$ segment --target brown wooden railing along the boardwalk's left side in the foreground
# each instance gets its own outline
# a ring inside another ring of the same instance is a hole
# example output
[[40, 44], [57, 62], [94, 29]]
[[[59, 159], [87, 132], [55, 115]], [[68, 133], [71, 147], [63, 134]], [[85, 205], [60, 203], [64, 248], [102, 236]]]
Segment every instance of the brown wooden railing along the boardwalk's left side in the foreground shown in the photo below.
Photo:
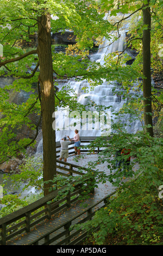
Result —
[[[21, 234], [23, 231], [29, 232], [30, 228], [37, 223], [45, 220], [46, 218], [50, 220], [51, 216], [56, 212], [65, 207], [70, 207], [82, 192], [81, 187], [83, 186], [83, 183], [81, 182], [76, 185], [72, 182], [72, 185], [74, 188], [72, 192], [67, 191], [67, 186], [61, 187], [36, 202], [2, 217], [0, 220], [0, 228], [2, 229], [1, 244], [5, 245], [7, 240], [12, 237]], [[66, 193], [66, 196], [56, 202], [52, 202], [57, 198], [60, 191], [62, 191], [63, 194]]]

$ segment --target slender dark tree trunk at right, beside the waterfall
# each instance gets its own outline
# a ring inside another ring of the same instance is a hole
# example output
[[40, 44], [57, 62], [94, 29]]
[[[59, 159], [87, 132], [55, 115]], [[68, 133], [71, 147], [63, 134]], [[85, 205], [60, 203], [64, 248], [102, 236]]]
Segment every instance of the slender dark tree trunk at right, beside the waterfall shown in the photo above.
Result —
[[[150, 0], [148, 0], [149, 4]], [[143, 114], [146, 131], [153, 137], [152, 124], [152, 94], [151, 94], [151, 11], [148, 5], [143, 6], [143, 25], [147, 29], [143, 30], [142, 50], [143, 50]], [[151, 127], [147, 127], [151, 125]]]

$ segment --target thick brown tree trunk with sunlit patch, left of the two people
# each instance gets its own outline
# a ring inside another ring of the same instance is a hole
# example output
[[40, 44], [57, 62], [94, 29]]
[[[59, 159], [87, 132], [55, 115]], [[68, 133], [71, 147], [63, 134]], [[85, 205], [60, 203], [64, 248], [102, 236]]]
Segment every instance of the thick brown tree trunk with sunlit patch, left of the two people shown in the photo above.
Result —
[[[39, 82], [41, 87], [42, 138], [43, 138], [43, 181], [56, 175], [55, 130], [52, 127], [54, 112], [53, 65], [51, 51], [51, 16], [47, 13], [38, 19], [37, 53], [40, 63]], [[49, 193], [50, 184], [44, 183], [44, 195]]]

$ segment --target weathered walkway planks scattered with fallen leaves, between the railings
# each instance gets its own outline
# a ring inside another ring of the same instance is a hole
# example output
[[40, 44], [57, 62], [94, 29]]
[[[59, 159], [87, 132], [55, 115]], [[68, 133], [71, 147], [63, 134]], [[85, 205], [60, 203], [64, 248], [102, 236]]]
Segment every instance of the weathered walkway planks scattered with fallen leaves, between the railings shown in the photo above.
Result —
[[[86, 163], [95, 159], [97, 157], [97, 154], [95, 155], [85, 155], [84, 158], [80, 158], [79, 162], [77, 164], [81, 164], [82, 166], [86, 166]], [[74, 156], [68, 157], [69, 163], [76, 163], [74, 161]], [[106, 166], [101, 167], [103, 170], [106, 170]], [[90, 198], [86, 200], [87, 206], [89, 206], [99, 202], [99, 200], [103, 199], [104, 197], [108, 196], [108, 194], [115, 191], [115, 187], [110, 186], [109, 182], [108, 184], [99, 184], [98, 188], [95, 188], [95, 193], [90, 195]], [[101, 206], [103, 204], [101, 203]], [[98, 209], [99, 206], [96, 207], [95, 210]], [[54, 216], [52, 216], [51, 220], [45, 220], [41, 223], [35, 225], [35, 227], [31, 228], [30, 233], [22, 233], [20, 235], [17, 235], [13, 239], [10, 239], [7, 241], [7, 245], [29, 245], [38, 237], [45, 235], [46, 233], [50, 232], [54, 228], [57, 228], [62, 223], [66, 223], [68, 220], [71, 220], [72, 217], [77, 216], [80, 212], [84, 212], [86, 208], [81, 205], [81, 202], [76, 201], [73, 204], [71, 204], [71, 208], [65, 208], [61, 210], [60, 212], [57, 212]], [[82, 218], [84, 218], [86, 214], [83, 214], [82, 216], [78, 217], [77, 220], [74, 220], [72, 224], [78, 223]], [[60, 230], [57, 230], [54, 234], [50, 235], [50, 237], [53, 237], [54, 235], [58, 235], [61, 233], [61, 231], [64, 231], [64, 227], [62, 227]], [[74, 231], [73, 231], [74, 232]], [[57, 242], [61, 243], [61, 240], [64, 238], [59, 238], [57, 241], [53, 242], [52, 245], [55, 245]], [[44, 239], [39, 241], [39, 245], [44, 243]], [[62, 243], [61, 243], [62, 244]]]

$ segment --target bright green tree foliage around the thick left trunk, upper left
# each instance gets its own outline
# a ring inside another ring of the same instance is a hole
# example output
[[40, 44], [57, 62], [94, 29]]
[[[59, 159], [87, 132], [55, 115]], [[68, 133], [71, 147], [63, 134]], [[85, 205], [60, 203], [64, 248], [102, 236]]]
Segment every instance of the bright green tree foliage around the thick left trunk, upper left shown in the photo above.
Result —
[[[103, 14], [98, 12], [96, 1], [90, 1], [89, 4], [86, 1], [68, 0], [0, 1], [0, 7], [2, 32], [0, 42], [3, 46], [0, 74], [15, 78], [11, 86], [1, 88], [0, 92], [2, 149], [0, 162], [3, 163], [20, 152], [24, 153], [29, 145], [34, 145], [41, 121], [41, 95], [38, 86], [40, 70], [35, 41], [38, 17], [47, 12], [51, 13], [53, 33], [73, 29], [77, 38], [76, 49], [78, 50], [75, 56], [71, 56], [70, 52], [54, 53], [52, 46], [53, 70], [57, 78], [79, 76], [84, 79], [87, 76], [93, 76], [93, 74], [88, 75], [89, 72], [86, 71], [90, 62], [87, 57], [84, 57], [87, 52], [85, 47], [93, 47], [93, 40], [103, 36], [106, 29], [111, 26], [109, 22], [103, 20]], [[83, 60], [80, 62], [81, 56]], [[12, 97], [17, 96], [18, 92], [29, 93], [28, 99], [20, 104], [12, 102]], [[62, 89], [54, 95], [56, 107], [61, 105], [70, 105], [71, 109], [76, 105], [82, 107], [77, 103], [76, 97], [71, 98], [66, 92], [67, 90]], [[31, 136], [20, 138], [17, 133], [20, 134], [22, 129], [26, 129]]]

